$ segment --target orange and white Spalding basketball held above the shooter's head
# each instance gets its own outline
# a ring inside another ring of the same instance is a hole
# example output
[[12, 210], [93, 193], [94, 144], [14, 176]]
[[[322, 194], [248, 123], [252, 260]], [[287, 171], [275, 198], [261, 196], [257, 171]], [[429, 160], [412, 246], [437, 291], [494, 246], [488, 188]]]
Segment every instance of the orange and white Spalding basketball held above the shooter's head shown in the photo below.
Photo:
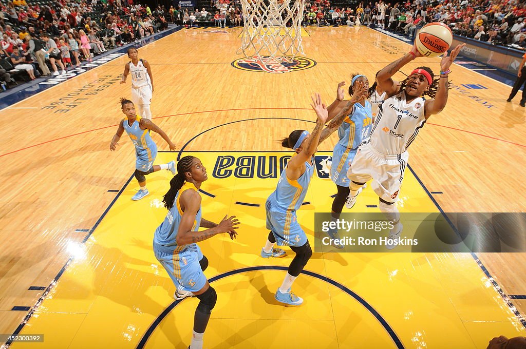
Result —
[[452, 41], [451, 29], [445, 24], [436, 22], [424, 25], [414, 39], [414, 44], [423, 56], [436, 57], [446, 52]]

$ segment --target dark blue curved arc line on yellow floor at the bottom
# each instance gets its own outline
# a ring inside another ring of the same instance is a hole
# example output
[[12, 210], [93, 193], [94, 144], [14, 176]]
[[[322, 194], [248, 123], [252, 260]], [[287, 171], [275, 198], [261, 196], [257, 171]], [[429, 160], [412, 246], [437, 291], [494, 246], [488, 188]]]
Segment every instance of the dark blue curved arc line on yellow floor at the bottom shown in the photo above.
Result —
[[[236, 275], [236, 274], [245, 273], [245, 272], [250, 272], [250, 271], [257, 271], [257, 270], [283, 270], [283, 271], [287, 271], [288, 267], [287, 266], [278, 266], [278, 265], [248, 266], [246, 268], [235, 269], [235, 270], [228, 271], [226, 273], [222, 273], [222, 274], [216, 275], [213, 278], [210, 278], [208, 280], [208, 282], [209, 283], [213, 283], [214, 281], [221, 280], [223, 278], [226, 278], [227, 276]], [[330, 283], [331, 285], [336, 286], [337, 288], [339, 288], [343, 292], [345, 292], [348, 295], [350, 295], [351, 297], [353, 297], [361, 305], [363, 305], [363, 307], [365, 307], [373, 316], [376, 317], [378, 322], [380, 322], [380, 324], [383, 326], [383, 329], [385, 329], [386, 332], [389, 334], [389, 336], [391, 337], [392, 341], [395, 342], [396, 347], [398, 349], [403, 349], [404, 348], [402, 342], [400, 341], [400, 338], [398, 338], [397, 334], [392, 329], [392, 327], [387, 323], [387, 321], [385, 319], [383, 319], [382, 315], [380, 315], [380, 313], [375, 308], [373, 308], [372, 305], [370, 305], [365, 299], [360, 297], [357, 293], [353, 292], [352, 290], [347, 288], [345, 285], [342, 285], [341, 283], [328, 278], [327, 276], [323, 276], [321, 274], [318, 274], [318, 273], [315, 273], [315, 272], [311, 272], [311, 271], [308, 271], [308, 270], [304, 270], [301, 273], [309, 275], [309, 276], [312, 276], [312, 278], [316, 278], [316, 279], [319, 279], [321, 281], [325, 281], [327, 283]], [[166, 307], [165, 310], [163, 310], [163, 312], [161, 312], [157, 316], [155, 321], [150, 325], [150, 327], [148, 327], [148, 330], [146, 330], [145, 334], [140, 339], [140, 342], [139, 342], [139, 344], [137, 344], [137, 347], [136, 347], [137, 349], [143, 349], [144, 348], [144, 346], [146, 345], [146, 342], [148, 342], [148, 338], [151, 336], [152, 333], [154, 333], [155, 329], [161, 323], [161, 321], [163, 321], [164, 318], [170, 313], [170, 311], [173, 310], [176, 307], [176, 305], [178, 305], [182, 301], [183, 300], [172, 302], [170, 305], [168, 305], [168, 307]], [[277, 301], [276, 301], [276, 303], [277, 303]]]

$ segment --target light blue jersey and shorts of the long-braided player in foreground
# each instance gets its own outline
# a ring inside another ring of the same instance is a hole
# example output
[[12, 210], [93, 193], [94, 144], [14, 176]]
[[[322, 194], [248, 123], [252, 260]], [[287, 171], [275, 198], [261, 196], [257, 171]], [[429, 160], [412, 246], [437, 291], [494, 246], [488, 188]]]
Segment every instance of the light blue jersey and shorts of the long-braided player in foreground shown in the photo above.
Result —
[[[186, 190], [197, 191], [197, 188], [193, 183], [185, 182], [177, 192], [174, 207], [168, 211], [163, 223], [155, 230], [154, 253], [178, 290], [197, 292], [205, 286], [207, 281], [199, 264], [203, 253], [195, 243], [179, 246], [176, 242], [177, 230], [183, 217], [179, 200]], [[200, 223], [201, 207], [197, 211], [191, 231], [197, 231]]]

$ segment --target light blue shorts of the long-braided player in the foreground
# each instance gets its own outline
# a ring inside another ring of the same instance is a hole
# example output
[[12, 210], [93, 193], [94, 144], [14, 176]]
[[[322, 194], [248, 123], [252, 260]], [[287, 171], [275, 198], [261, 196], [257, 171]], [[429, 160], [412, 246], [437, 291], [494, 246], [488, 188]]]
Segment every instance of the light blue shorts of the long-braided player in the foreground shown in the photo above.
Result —
[[203, 253], [197, 244], [190, 244], [184, 251], [174, 253], [154, 242], [154, 253], [179, 290], [198, 292], [204, 288], [207, 279], [199, 264]]

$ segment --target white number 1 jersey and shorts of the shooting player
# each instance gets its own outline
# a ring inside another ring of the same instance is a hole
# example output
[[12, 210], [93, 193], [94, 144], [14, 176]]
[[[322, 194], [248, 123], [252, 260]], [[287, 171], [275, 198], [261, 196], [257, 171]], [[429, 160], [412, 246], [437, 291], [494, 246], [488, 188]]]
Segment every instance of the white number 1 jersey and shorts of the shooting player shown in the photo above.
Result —
[[386, 99], [380, 106], [370, 139], [363, 144], [347, 172], [350, 180], [367, 182], [387, 202], [398, 199], [409, 153], [407, 148], [426, 123], [421, 97], [406, 102], [406, 93]]

